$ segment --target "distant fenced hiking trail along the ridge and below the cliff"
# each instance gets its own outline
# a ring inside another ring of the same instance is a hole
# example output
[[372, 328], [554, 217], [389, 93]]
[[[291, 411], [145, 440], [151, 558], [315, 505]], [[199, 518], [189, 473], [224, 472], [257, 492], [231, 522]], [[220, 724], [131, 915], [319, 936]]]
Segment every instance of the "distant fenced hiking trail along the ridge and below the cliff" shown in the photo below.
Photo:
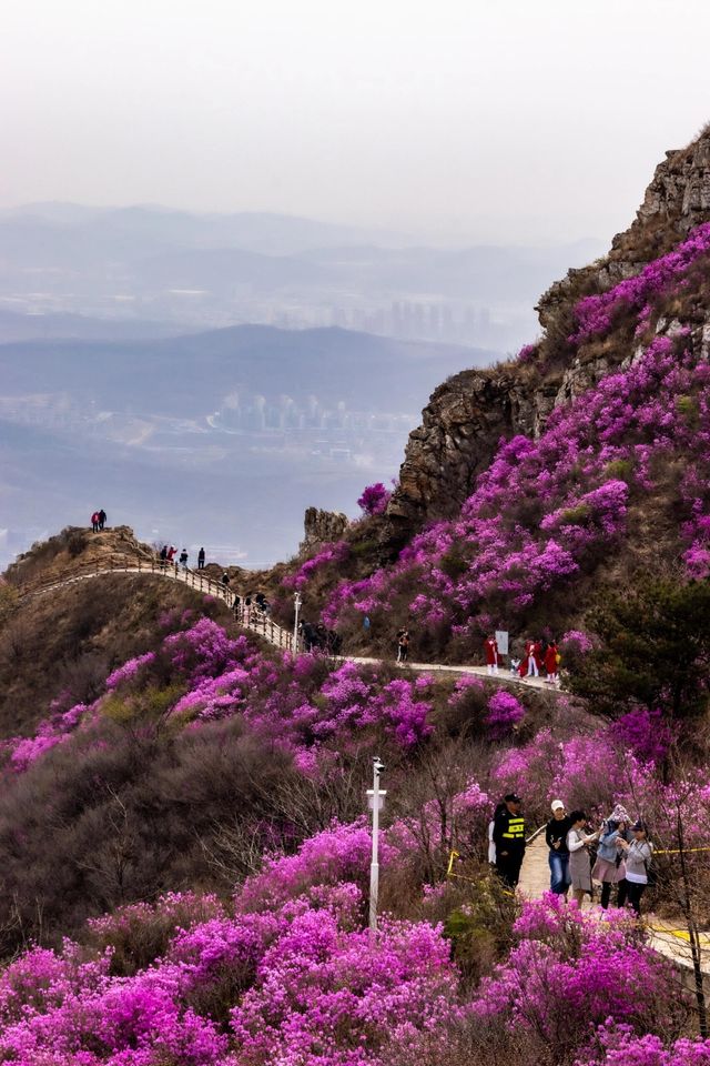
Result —
[[[126, 556], [120, 556], [116, 559], [109, 560], [109, 564], [105, 562], [102, 565], [101, 563], [90, 567], [82, 569], [77, 571], [68, 577], [62, 579], [61, 581], [53, 581], [48, 584], [41, 584], [36, 587], [28, 587], [27, 591], [22, 592], [22, 599], [28, 599], [30, 596], [43, 595], [44, 593], [54, 592], [58, 589], [67, 587], [68, 585], [77, 584], [81, 581], [89, 581], [94, 577], [103, 577], [109, 574], [126, 574], [128, 576], [142, 575], [146, 577], [162, 577], [168, 581], [175, 581], [180, 584], [187, 585], [191, 589], [194, 589], [196, 592], [203, 592], [206, 595], [214, 596], [217, 600], [222, 600], [229, 607], [234, 607], [234, 602], [237, 593], [232, 589], [225, 587], [221, 582], [215, 581], [214, 577], [210, 577], [204, 571], [200, 570], [184, 570], [179, 567], [175, 563], [165, 563], [162, 564], [158, 559], [131, 559], [126, 560]], [[240, 625], [243, 625], [244, 628], [251, 630], [253, 633], [257, 633], [260, 636], [263, 636], [264, 640], [268, 641], [270, 644], [275, 645], [276, 647], [283, 647], [286, 651], [293, 650], [293, 632], [291, 630], [284, 628], [284, 626], [277, 625], [275, 622], [272, 622], [267, 614], [264, 614], [263, 611], [260, 611], [254, 604], [250, 607], [244, 606], [243, 597], [240, 601], [240, 607], [236, 614], [237, 622]], [[338, 655], [338, 658], [351, 663], [379, 663], [382, 660], [375, 657], [368, 657], [363, 655]], [[442, 674], [473, 674], [477, 677], [487, 677], [489, 681], [493, 681], [500, 685], [506, 685], [508, 687], [521, 688], [539, 688], [545, 692], [558, 693], [560, 690], [555, 685], [550, 685], [544, 677], [519, 677], [517, 673], [511, 674], [507, 670], [501, 670], [498, 674], [488, 674], [486, 666], [446, 666], [442, 663], [415, 663], [407, 662], [403, 664], [403, 668], [418, 671], [420, 673], [442, 673]]]

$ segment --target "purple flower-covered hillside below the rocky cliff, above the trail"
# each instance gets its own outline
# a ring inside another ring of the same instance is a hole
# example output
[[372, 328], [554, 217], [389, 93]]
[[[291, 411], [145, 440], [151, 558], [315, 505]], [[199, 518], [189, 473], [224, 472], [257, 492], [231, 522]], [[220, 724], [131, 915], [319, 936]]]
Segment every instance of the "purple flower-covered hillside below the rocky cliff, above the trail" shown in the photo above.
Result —
[[[682, 284], [684, 274], [658, 276]], [[608, 324], [617, 302], [628, 311], [629, 288], [585, 301], [584, 329]], [[559, 635], [579, 619], [590, 580], [623, 580], [659, 560], [708, 573], [706, 341], [680, 325], [655, 335], [647, 288], [637, 285], [642, 339], [629, 365], [558, 408], [539, 439], [504, 442], [456, 521], [433, 524], [371, 577], [335, 584], [327, 625], [362, 643], [365, 615], [387, 640], [406, 621], [419, 657], [470, 658], [494, 627]]]

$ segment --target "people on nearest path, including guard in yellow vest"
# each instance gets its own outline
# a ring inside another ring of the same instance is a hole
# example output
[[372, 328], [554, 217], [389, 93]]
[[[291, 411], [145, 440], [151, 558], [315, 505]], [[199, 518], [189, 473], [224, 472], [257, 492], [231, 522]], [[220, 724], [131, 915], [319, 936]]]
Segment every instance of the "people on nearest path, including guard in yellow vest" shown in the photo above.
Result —
[[[549, 849], [550, 892], [572, 897], [581, 906], [585, 895], [594, 899], [592, 882], [601, 885], [600, 904], [606, 911], [616, 887], [615, 904], [631, 905], [641, 913], [641, 896], [649, 883], [653, 845], [648, 826], [633, 821], [621, 804], [594, 828], [582, 809], [569, 814], [561, 800], [552, 802], [552, 816], [545, 828]], [[508, 793], [498, 804], [488, 827], [488, 859], [508, 888], [515, 888], [525, 856], [523, 800]]]

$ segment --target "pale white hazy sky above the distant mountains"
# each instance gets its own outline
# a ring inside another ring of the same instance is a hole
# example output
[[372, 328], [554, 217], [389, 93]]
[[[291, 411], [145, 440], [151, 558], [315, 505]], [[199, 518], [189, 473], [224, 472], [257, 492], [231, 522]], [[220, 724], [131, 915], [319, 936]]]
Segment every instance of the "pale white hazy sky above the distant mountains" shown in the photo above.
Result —
[[2, 207], [608, 239], [710, 119], [708, 0], [0, 0], [0, 16]]

